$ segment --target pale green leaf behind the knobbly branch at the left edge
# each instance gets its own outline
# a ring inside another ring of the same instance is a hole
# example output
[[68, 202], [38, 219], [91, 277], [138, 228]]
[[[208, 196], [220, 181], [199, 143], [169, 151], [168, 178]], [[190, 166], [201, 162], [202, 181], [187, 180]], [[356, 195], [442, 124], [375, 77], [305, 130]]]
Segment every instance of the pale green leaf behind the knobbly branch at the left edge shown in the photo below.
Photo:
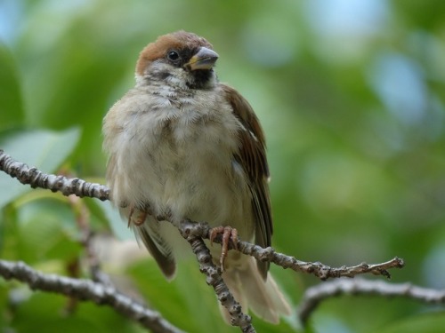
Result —
[[[0, 134], [0, 148], [16, 161], [51, 173], [61, 166], [77, 145], [80, 131], [7, 131]], [[16, 179], [0, 176], [0, 208], [29, 190]]]

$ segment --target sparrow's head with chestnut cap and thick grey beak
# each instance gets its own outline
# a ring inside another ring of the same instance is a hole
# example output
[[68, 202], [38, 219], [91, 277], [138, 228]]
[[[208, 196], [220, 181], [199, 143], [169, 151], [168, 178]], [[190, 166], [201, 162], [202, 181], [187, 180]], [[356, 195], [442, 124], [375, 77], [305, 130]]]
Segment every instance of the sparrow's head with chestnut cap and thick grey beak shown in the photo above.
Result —
[[212, 44], [195, 34], [177, 31], [160, 36], [141, 52], [136, 65], [138, 85], [163, 82], [183, 89], [209, 89], [216, 83]]

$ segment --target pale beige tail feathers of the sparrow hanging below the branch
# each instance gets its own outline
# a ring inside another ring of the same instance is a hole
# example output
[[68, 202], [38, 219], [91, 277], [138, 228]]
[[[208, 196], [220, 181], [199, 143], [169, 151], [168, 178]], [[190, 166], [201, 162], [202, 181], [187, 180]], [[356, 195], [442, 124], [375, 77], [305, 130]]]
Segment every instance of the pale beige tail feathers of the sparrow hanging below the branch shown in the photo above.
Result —
[[[274, 324], [279, 323], [280, 314], [291, 313], [290, 306], [271, 274], [268, 274], [267, 280], [264, 281], [254, 258], [248, 258], [248, 265], [246, 263], [243, 269], [224, 272], [223, 279], [233, 297], [242, 306], [244, 313], [247, 313], [249, 307], [258, 317]], [[230, 323], [230, 314], [222, 305], [220, 306], [224, 319]]]

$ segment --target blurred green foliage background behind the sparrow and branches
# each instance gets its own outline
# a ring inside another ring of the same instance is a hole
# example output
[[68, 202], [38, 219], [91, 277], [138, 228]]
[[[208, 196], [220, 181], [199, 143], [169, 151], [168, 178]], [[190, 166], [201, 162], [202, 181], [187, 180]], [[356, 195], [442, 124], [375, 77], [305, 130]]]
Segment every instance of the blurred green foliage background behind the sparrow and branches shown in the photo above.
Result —
[[[134, 86], [142, 48], [178, 29], [214, 45], [221, 81], [263, 124], [277, 250], [330, 266], [400, 256], [406, 267], [392, 282], [445, 288], [440, 0], [0, 0], [0, 148], [44, 172], [104, 183], [101, 119]], [[48, 192], [0, 175], [0, 258], [88, 278], [86, 220], [120, 289], [184, 330], [238, 331], [221, 320], [192, 258], [166, 282], [109, 203]], [[271, 270], [295, 306], [320, 283]], [[254, 322], [258, 331], [303, 330], [295, 316]], [[308, 330], [438, 332], [444, 322], [443, 307], [337, 297]], [[0, 279], [0, 332], [36, 327], [143, 331], [108, 307]]]

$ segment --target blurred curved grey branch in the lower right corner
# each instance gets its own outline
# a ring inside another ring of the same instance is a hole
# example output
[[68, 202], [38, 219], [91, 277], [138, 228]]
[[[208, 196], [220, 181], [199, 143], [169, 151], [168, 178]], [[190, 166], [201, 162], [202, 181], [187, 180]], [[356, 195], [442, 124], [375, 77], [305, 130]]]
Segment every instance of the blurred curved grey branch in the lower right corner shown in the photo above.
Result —
[[427, 289], [411, 283], [388, 283], [364, 279], [336, 280], [320, 283], [304, 292], [298, 307], [298, 317], [303, 324], [322, 301], [342, 295], [378, 295], [383, 297], [409, 297], [427, 304], [445, 304], [445, 290]]

